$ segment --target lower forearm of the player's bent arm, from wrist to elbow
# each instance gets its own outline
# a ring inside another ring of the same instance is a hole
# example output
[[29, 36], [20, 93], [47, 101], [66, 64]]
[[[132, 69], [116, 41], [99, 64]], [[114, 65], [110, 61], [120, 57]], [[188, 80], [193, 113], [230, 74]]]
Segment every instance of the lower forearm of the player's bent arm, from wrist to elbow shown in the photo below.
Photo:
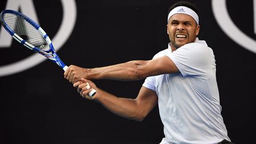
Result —
[[102, 104], [112, 113], [127, 119], [142, 121], [146, 116], [143, 113], [143, 108], [139, 108], [136, 99], [115, 97], [108, 92], [98, 89], [95, 101]]

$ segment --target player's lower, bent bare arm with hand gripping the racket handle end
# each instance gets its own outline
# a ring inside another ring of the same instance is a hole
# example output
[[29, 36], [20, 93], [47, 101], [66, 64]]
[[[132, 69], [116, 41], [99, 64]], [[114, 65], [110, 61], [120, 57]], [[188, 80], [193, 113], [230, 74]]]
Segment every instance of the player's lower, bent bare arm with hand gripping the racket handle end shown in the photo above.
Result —
[[[87, 82], [91, 88], [97, 90], [97, 93], [93, 97], [88, 96], [88, 92], [91, 89], [86, 88]], [[82, 79], [82, 82], [76, 82], [73, 87], [78, 88], [78, 92], [82, 97], [97, 101], [107, 108], [107, 110], [118, 116], [136, 121], [142, 121], [158, 102], [156, 92], [145, 87], [140, 89], [135, 99], [116, 97], [97, 88], [93, 82], [85, 79]]]

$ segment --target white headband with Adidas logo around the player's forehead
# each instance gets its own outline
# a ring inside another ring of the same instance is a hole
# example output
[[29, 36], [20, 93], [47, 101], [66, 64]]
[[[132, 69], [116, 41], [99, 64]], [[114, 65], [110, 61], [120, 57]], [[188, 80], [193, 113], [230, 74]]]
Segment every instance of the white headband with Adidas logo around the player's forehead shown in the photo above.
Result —
[[179, 7], [176, 7], [174, 9], [172, 9], [169, 12], [167, 23], [169, 21], [169, 18], [171, 18], [171, 16], [174, 15], [174, 14], [187, 14], [187, 15], [190, 15], [191, 17], [194, 18], [194, 20], [196, 20], [196, 23], [199, 24], [199, 16], [197, 15], [196, 12], [194, 12], [192, 9], [190, 9], [188, 7], [179, 6]]

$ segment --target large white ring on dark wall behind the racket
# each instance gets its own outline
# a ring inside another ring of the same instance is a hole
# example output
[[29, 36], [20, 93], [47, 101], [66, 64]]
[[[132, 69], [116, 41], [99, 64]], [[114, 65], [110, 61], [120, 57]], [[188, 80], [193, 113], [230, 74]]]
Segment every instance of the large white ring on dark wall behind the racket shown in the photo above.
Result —
[[[75, 0], [61, 0], [63, 7], [63, 19], [56, 36], [52, 39], [55, 50], [59, 50], [60, 47], [68, 40], [76, 21], [76, 2]], [[8, 65], [0, 66], [0, 76], [11, 75], [17, 72], [25, 71], [33, 66], [38, 65], [47, 58], [35, 53], [23, 60], [14, 62]]]

